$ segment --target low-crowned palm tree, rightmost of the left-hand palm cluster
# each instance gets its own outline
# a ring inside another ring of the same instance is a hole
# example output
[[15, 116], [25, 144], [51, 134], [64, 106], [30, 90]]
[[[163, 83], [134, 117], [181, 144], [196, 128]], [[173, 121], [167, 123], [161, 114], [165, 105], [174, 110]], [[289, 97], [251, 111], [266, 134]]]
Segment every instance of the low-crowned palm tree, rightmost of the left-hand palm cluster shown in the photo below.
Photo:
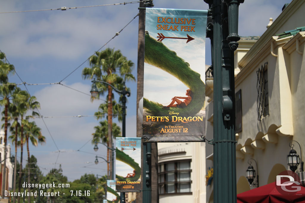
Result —
[[[30, 148], [29, 148], [29, 141], [31, 141], [32, 145], [37, 146], [38, 143], [41, 145], [45, 143], [45, 137], [41, 134], [41, 128], [39, 128], [35, 121], [33, 122], [26, 122], [24, 127], [25, 139], [27, 142], [27, 182], [30, 184]], [[29, 191], [30, 192], [30, 188]], [[30, 196], [28, 196], [28, 202], [30, 202]]]

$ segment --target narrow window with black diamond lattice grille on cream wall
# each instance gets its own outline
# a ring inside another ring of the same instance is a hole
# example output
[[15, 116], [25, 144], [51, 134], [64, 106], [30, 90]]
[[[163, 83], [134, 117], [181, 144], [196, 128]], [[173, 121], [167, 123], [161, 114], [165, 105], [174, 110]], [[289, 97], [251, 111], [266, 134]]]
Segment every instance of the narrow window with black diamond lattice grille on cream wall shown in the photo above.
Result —
[[268, 70], [267, 64], [257, 71], [257, 108], [258, 108], [258, 120], [269, 115], [269, 100], [268, 100]]

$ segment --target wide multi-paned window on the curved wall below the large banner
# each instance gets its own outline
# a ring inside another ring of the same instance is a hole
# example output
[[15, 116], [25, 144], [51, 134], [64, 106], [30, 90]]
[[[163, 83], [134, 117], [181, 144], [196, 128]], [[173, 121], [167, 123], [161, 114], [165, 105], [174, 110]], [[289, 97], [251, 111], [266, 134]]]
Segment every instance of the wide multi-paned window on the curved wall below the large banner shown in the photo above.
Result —
[[159, 194], [191, 193], [191, 160], [159, 164]]

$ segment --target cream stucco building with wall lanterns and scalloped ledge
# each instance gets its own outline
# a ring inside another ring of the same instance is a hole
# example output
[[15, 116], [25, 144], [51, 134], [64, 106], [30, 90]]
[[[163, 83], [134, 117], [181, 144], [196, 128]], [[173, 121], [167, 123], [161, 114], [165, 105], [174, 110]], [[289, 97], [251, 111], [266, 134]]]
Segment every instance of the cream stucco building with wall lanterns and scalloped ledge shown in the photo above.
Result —
[[[237, 193], [254, 188], [245, 177], [249, 159], [262, 186], [290, 170], [286, 157], [292, 140], [305, 157], [304, 11], [305, 1], [293, 0], [261, 37], [243, 38], [235, 51]], [[206, 75], [206, 138], [212, 139], [213, 78]], [[207, 144], [209, 166], [213, 146]], [[206, 202], [213, 202], [213, 184], [206, 187]]]

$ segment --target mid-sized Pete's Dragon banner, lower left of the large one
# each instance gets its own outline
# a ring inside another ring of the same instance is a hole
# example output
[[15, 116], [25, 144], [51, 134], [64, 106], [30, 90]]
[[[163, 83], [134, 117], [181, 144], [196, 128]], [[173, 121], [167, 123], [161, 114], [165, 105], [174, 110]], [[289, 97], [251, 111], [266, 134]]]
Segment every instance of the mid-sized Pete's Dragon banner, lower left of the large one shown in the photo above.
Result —
[[139, 192], [141, 189], [141, 138], [117, 138], [116, 189]]

